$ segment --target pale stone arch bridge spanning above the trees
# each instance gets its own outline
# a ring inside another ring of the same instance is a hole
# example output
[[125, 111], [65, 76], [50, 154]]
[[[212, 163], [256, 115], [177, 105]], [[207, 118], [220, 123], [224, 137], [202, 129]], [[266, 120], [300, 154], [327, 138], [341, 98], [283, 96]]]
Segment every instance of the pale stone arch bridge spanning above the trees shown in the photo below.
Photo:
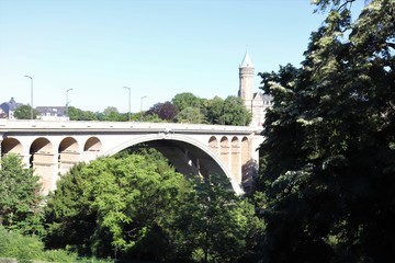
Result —
[[1, 157], [19, 155], [41, 176], [44, 193], [75, 163], [136, 146], [158, 149], [183, 174], [226, 175], [242, 193], [258, 169], [262, 140], [249, 126], [0, 119]]

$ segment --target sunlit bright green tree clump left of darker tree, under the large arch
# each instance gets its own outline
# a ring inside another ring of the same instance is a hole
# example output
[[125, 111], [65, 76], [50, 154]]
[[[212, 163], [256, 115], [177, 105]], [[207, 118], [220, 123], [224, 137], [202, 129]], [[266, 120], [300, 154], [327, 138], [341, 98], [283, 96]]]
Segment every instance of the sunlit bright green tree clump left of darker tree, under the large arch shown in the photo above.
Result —
[[167, 253], [162, 225], [173, 215], [184, 183], [157, 156], [120, 155], [75, 168], [48, 197], [47, 245], [160, 260]]

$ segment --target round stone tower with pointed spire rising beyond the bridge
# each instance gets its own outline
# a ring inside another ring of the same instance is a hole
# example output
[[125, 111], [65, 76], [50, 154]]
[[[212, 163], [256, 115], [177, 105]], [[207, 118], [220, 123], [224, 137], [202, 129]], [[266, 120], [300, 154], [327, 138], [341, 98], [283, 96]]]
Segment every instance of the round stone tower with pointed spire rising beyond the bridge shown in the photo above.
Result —
[[246, 52], [246, 55], [239, 67], [239, 92], [238, 96], [241, 98], [245, 106], [251, 112], [252, 111], [252, 88], [253, 88], [253, 76], [255, 68], [251, 59]]

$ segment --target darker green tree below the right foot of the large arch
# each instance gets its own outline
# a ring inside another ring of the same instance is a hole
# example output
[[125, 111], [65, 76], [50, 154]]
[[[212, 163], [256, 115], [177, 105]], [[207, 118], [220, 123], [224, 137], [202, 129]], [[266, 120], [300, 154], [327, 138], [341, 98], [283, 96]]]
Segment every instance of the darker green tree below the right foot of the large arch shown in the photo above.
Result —
[[248, 262], [264, 225], [248, 199], [236, 196], [229, 181], [191, 179], [194, 191], [185, 193], [169, 226], [176, 258], [182, 262]]

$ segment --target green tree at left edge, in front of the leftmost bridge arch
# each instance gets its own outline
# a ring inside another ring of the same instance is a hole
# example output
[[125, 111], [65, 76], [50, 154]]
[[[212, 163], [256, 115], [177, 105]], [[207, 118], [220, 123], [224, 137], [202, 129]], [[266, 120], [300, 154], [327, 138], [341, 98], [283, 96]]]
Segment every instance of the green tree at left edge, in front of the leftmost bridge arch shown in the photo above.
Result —
[[0, 164], [0, 225], [23, 233], [42, 233], [38, 176], [15, 155], [2, 157]]

